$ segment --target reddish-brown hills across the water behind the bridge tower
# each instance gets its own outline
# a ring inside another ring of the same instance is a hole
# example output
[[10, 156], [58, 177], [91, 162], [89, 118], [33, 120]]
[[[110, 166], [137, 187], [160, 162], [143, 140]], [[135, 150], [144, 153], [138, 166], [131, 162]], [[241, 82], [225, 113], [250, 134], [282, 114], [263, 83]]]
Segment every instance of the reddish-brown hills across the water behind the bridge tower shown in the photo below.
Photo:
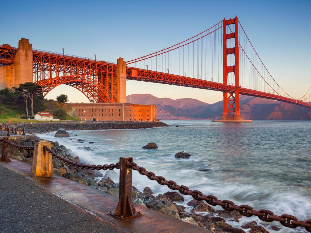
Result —
[[[132, 103], [157, 105], [161, 120], [220, 119], [223, 102], [204, 103], [197, 99], [157, 98], [151, 94], [132, 94]], [[130, 96], [127, 96], [130, 103]], [[310, 120], [311, 109], [290, 103], [252, 96], [240, 96], [240, 112], [244, 120]]]

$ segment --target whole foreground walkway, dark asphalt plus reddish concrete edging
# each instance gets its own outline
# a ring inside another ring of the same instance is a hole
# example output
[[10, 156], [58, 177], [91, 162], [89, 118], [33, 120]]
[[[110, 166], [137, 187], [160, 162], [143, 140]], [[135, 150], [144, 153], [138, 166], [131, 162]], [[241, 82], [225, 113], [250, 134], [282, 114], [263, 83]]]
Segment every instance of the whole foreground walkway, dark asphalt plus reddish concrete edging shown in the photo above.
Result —
[[211, 233], [142, 206], [143, 216], [119, 220], [118, 199], [75, 181], [54, 175], [34, 179], [31, 166], [0, 163], [0, 232]]

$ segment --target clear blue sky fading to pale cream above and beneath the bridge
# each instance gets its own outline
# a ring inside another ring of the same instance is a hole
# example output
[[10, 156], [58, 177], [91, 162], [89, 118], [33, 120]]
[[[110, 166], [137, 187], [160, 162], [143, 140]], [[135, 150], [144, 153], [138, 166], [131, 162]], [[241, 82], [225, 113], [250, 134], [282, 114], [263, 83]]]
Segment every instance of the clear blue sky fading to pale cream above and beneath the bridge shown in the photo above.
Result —
[[[262, 61], [281, 87], [300, 98], [311, 85], [309, 41], [311, 1], [0, 1], [0, 44], [116, 62], [130, 60], [188, 39], [225, 18], [239, 17]], [[70, 90], [70, 91], [69, 91]], [[79, 91], [59, 86], [71, 102], [86, 102]], [[197, 98], [207, 103], [222, 93], [127, 81], [127, 94]]]

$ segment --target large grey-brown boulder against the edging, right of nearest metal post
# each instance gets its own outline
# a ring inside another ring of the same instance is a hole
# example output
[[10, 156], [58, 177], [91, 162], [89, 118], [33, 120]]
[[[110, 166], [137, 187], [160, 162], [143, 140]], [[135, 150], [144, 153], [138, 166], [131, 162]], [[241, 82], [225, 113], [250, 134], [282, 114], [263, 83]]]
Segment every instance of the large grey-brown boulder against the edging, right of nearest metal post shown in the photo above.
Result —
[[166, 214], [170, 217], [179, 219], [178, 209], [168, 200], [154, 199], [146, 203], [147, 208]]

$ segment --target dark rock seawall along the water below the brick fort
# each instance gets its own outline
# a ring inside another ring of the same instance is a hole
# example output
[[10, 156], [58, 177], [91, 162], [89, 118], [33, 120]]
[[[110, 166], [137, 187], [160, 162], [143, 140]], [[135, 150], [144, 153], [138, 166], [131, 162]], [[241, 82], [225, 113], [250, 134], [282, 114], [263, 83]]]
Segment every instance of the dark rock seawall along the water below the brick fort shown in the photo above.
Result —
[[119, 129], [148, 129], [168, 126], [161, 121], [135, 121], [135, 122], [99, 122], [99, 123], [52, 123], [25, 125], [25, 132], [29, 134], [45, 133], [64, 130], [119, 130]]

